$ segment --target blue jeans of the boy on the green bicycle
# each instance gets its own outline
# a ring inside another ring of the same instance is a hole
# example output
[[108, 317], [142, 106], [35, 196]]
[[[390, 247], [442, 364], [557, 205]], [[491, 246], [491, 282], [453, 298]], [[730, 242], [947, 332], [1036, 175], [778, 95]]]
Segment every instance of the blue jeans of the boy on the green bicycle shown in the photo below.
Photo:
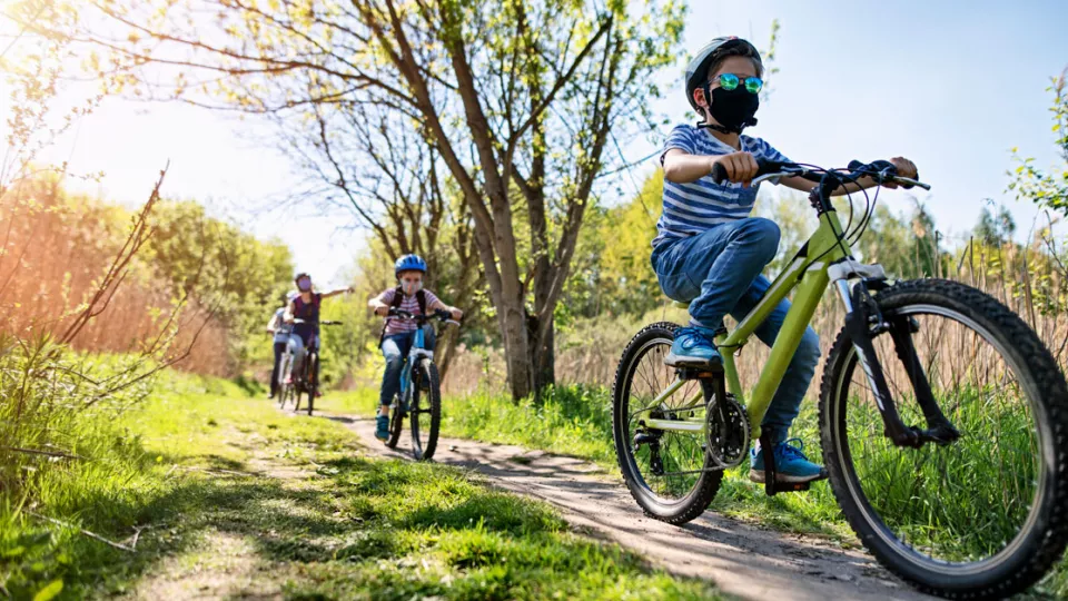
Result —
[[[712, 227], [689, 238], [669, 239], [653, 249], [652, 264], [664, 294], [690, 303], [693, 324], [715, 328], [730, 314], [744, 317], [771, 286], [760, 275], [779, 250], [779, 226], [760, 217]], [[756, 328], [771, 346], [790, 309], [783, 299]], [[809, 327], [761, 423], [774, 442], [787, 440], [820, 361], [820, 338]]]

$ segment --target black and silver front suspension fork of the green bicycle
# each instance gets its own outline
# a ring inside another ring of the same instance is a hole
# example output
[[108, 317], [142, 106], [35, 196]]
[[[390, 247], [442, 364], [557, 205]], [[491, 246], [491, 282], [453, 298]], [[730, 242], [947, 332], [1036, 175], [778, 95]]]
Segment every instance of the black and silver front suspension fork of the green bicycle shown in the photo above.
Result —
[[[920, 359], [916, 354], [916, 346], [912, 344], [912, 334], [919, 331], [919, 324], [911, 317], [891, 315], [886, 319], [879, 306], [874, 303], [868, 292], [869, 286], [878, 289], [883, 287], [881, 280], [863, 279], [858, 283], [852, 290], [844, 279], [835, 282], [838, 292], [846, 305], [846, 333], [852, 342], [853, 348], [868, 384], [876, 396], [876, 405], [882, 415], [886, 425], [884, 434], [897, 446], [908, 446], [919, 449], [924, 443], [933, 442], [937, 444], [949, 444], [960, 437], [960, 433], [942, 414], [934, 395], [931, 392], [930, 383]], [[893, 395], [890, 393], [890, 386], [887, 384], [886, 375], [882, 372], [882, 365], [876, 354], [876, 347], [872, 343], [872, 335], [889, 331], [893, 341], [894, 352], [898, 359], [906, 368], [912, 391], [916, 394], [916, 401], [923, 412], [927, 421], [927, 428], [920, 430], [916, 426], [907, 426], [901, 421], [898, 413]]]

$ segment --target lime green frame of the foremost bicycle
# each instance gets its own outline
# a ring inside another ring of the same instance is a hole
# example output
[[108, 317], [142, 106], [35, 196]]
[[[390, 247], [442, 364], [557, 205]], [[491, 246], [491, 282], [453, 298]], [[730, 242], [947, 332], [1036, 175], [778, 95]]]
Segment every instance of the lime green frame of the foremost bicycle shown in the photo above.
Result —
[[[852, 253], [849, 243], [842, 236], [842, 225], [834, 210], [823, 210], [819, 215], [820, 225], [812, 234], [812, 237], [801, 247], [790, 265], [779, 277], [772, 282], [768, 293], [756, 304], [755, 307], [735, 326], [733, 332], [716, 337], [716, 345], [726, 352], [723, 356], [723, 372], [726, 378], [728, 391], [738, 398], [740, 403], [745, 404], [749, 420], [753, 427], [753, 439], [760, 436], [760, 423], [768, 413], [771, 400], [782, 383], [782, 377], [793, 358], [798, 346], [801, 344], [801, 337], [805, 328], [812, 321], [815, 309], [827, 290], [830, 283], [828, 269], [839, 260], [851, 257]], [[843, 298], [849, 298], [849, 286], [844, 279], [838, 280], [840, 292]], [[749, 403], [744, 401], [741, 380], [738, 376], [738, 368], [734, 364], [734, 357], [741, 352], [742, 347], [749, 342], [756, 328], [764, 323], [772, 311], [791, 292], [797, 289], [792, 306], [787, 312], [782, 328], [771, 347], [771, 355], [761, 371], [760, 380], [753, 387], [752, 396]], [[733, 352], [731, 352], [733, 351]], [[676, 376], [675, 381], [660, 393], [646, 410], [660, 405], [665, 398], [674, 394], [685, 384], [685, 380]], [[695, 408], [704, 403], [704, 391], [699, 391], [692, 398], [688, 400], [681, 407], [672, 407], [673, 412]], [[704, 418], [689, 420], [659, 420], [645, 418], [649, 427], [673, 432], [704, 432], [706, 428]]]

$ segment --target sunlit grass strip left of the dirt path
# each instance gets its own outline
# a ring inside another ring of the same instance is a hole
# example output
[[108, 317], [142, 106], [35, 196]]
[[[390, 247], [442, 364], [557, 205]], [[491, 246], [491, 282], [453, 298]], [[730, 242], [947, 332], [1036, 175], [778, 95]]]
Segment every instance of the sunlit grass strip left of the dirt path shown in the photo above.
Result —
[[[29, 515], [0, 492], [0, 584], [17, 599], [708, 599], [548, 505], [441, 465], [370, 460], [340, 423], [168, 373], [92, 424], [117, 441], [50, 481]], [[88, 426], [87, 426], [88, 427]], [[102, 449], [102, 447], [101, 447]], [[126, 545], [141, 529], [136, 551]]]

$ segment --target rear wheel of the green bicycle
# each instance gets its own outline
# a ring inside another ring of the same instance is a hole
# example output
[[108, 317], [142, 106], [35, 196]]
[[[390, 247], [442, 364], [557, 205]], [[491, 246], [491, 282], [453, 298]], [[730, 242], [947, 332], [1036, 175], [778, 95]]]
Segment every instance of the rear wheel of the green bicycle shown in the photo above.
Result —
[[722, 471], [706, 471], [713, 462], [704, 451], [701, 432], [644, 425], [646, 417], [704, 420], [703, 403], [688, 406], [701, 390], [696, 381], [684, 383], [661, 403], [652, 403], [675, 378], [675, 370], [664, 365], [664, 357], [678, 328], [672, 323], [653, 324], [627, 344], [615, 373], [612, 407], [615, 452], [631, 496], [647, 515], [673, 524], [704, 512], [723, 479]]

